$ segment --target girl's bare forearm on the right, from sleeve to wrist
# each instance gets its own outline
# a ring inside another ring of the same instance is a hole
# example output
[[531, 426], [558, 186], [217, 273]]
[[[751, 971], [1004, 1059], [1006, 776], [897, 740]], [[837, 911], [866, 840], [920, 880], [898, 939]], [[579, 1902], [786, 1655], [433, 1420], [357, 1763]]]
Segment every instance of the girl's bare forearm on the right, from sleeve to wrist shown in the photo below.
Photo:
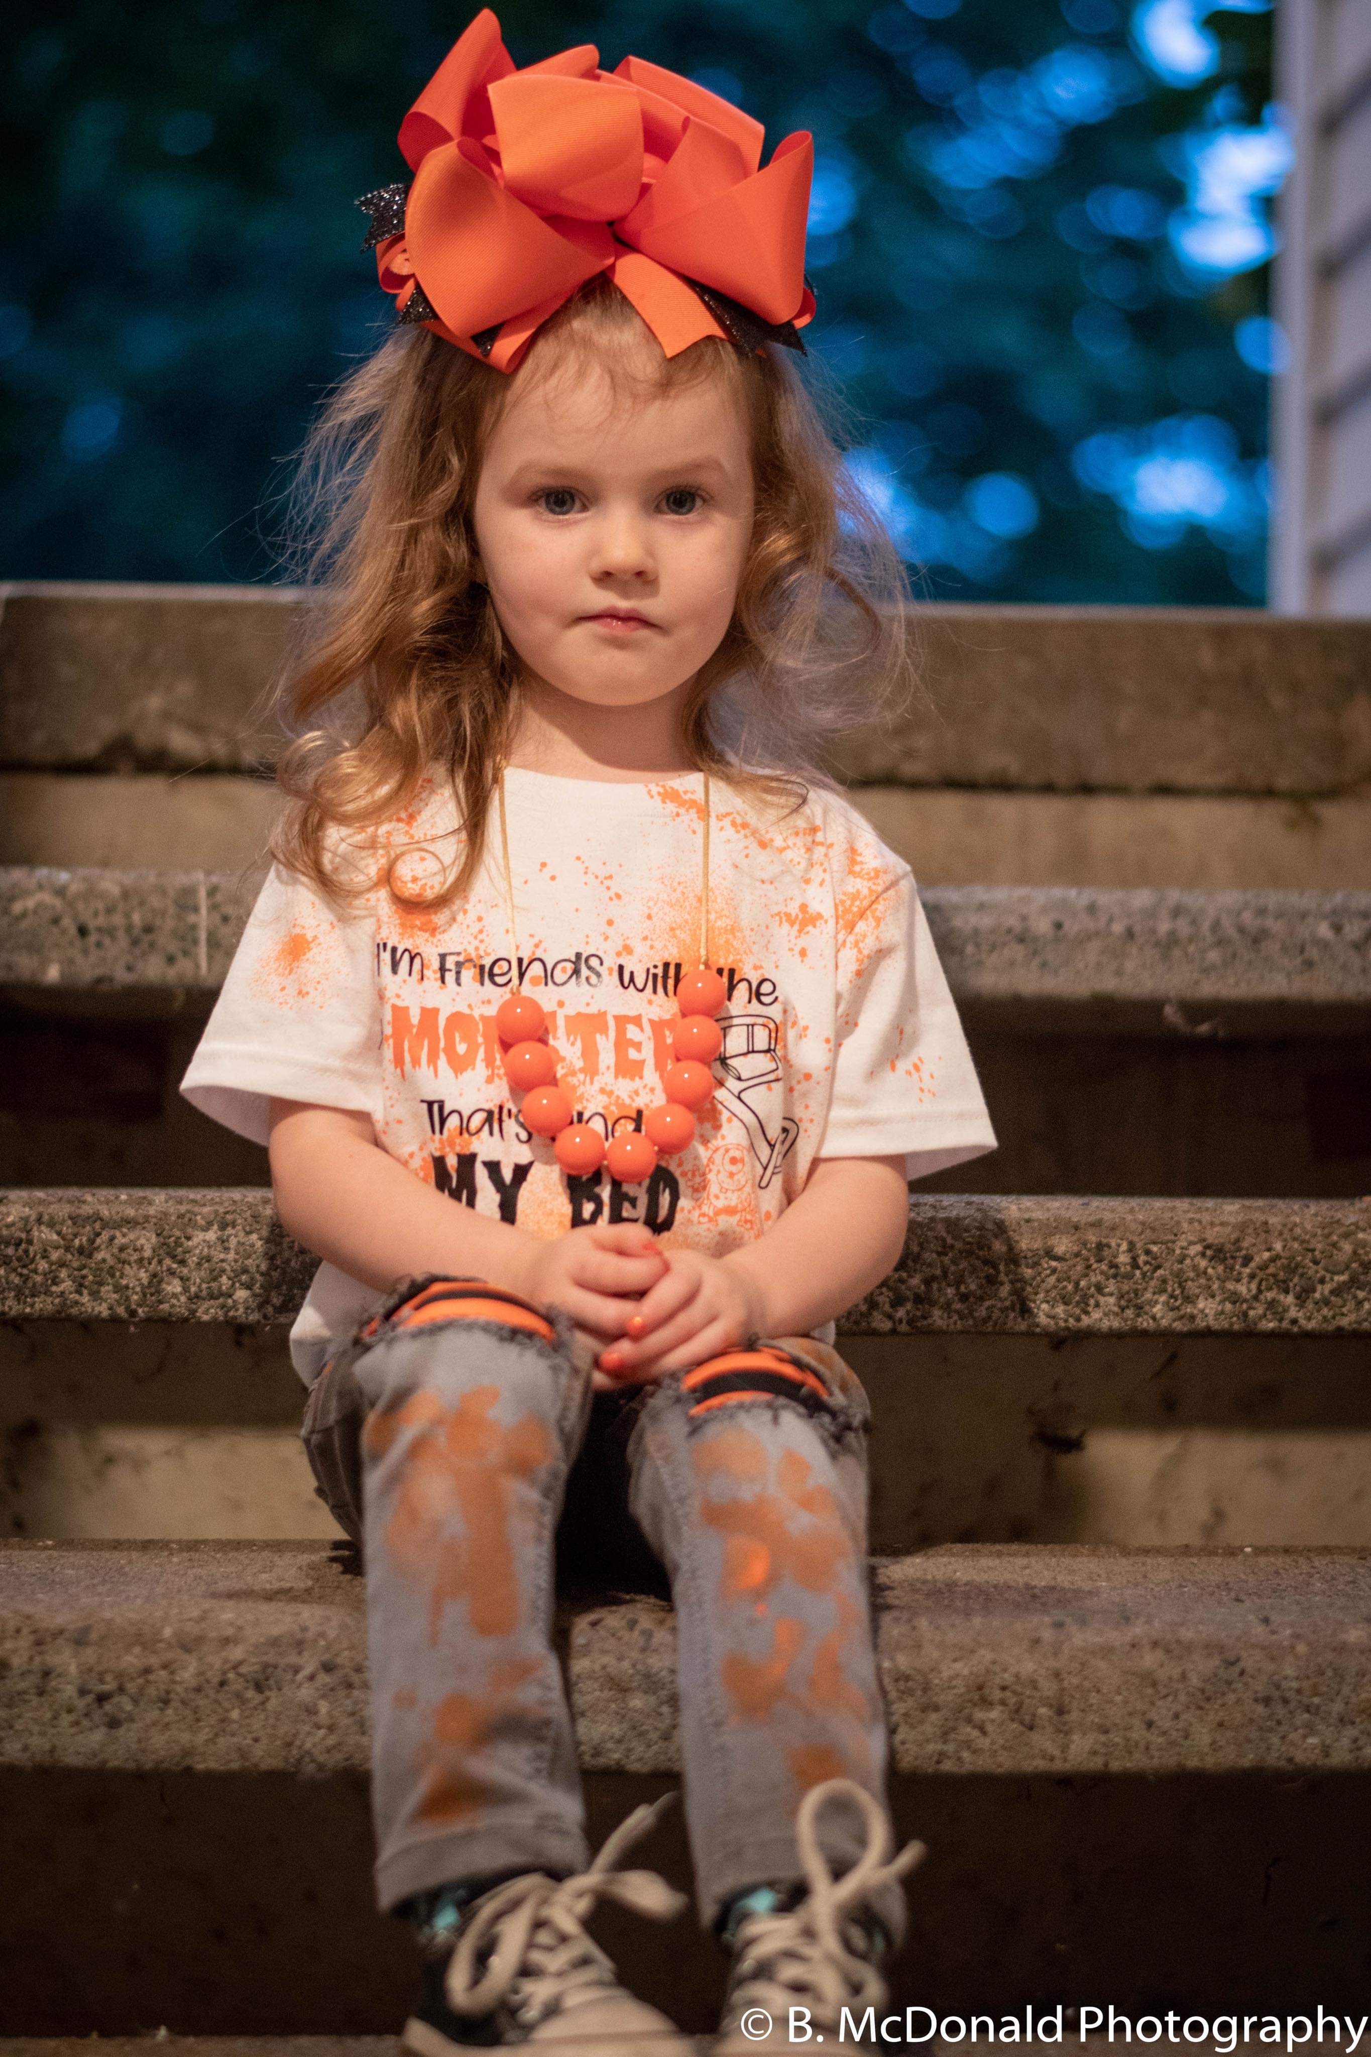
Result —
[[820, 1158], [781, 1220], [724, 1263], [752, 1286], [763, 1335], [808, 1335], [880, 1286], [906, 1230], [902, 1154]]

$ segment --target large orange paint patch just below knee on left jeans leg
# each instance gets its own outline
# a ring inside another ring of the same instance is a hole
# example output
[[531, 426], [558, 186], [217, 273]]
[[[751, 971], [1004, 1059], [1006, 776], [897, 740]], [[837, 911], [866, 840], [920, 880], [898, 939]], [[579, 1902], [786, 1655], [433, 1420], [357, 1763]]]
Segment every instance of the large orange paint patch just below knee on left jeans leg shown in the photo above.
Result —
[[[442, 1611], [467, 1600], [477, 1635], [508, 1635], [518, 1627], [520, 1594], [510, 1514], [520, 1487], [551, 1460], [549, 1430], [534, 1415], [510, 1428], [491, 1419], [499, 1386], [473, 1386], [456, 1407], [415, 1393], [391, 1413], [366, 1423], [366, 1454], [376, 1460], [415, 1432], [397, 1485], [386, 1547], [415, 1582], [432, 1578], [430, 1641], [438, 1641]], [[454, 1516], [462, 1532], [448, 1535]]]

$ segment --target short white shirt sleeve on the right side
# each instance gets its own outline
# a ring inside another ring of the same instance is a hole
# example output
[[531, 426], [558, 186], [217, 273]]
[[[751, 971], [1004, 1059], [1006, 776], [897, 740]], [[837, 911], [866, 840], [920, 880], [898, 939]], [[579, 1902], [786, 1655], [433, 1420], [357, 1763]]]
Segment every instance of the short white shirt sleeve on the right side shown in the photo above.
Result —
[[820, 1156], [898, 1156], [927, 1179], [995, 1148], [962, 1022], [909, 868], [837, 938], [832, 1098]]

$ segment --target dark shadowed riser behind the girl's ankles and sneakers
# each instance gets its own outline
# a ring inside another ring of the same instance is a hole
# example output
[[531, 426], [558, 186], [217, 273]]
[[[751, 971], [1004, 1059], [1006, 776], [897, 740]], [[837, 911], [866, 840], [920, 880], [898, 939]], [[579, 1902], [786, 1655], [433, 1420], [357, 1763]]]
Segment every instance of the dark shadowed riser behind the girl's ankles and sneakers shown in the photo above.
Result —
[[[660, 1779], [588, 1781], [598, 1843]], [[909, 1777], [896, 2006], [1357, 2010], [1371, 1777]], [[395, 2030], [409, 1946], [370, 1899], [362, 1777], [0, 1773], [0, 2034]], [[637, 1855], [637, 1853], [635, 1853]], [[678, 1884], [678, 1810], [637, 1862]], [[707, 2030], [695, 1917], [596, 1917], [629, 1983]]]

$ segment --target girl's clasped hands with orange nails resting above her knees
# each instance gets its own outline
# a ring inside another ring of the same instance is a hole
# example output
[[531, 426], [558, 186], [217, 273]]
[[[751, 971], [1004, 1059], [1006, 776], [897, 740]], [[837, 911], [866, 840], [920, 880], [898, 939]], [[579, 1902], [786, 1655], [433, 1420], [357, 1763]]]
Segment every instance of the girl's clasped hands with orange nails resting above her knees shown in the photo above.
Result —
[[639, 1222], [532, 1240], [516, 1290], [561, 1306], [600, 1345], [598, 1393], [687, 1370], [765, 1327], [761, 1288], [728, 1257], [664, 1251]]

